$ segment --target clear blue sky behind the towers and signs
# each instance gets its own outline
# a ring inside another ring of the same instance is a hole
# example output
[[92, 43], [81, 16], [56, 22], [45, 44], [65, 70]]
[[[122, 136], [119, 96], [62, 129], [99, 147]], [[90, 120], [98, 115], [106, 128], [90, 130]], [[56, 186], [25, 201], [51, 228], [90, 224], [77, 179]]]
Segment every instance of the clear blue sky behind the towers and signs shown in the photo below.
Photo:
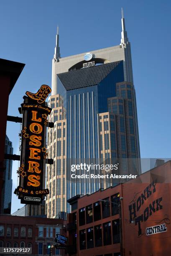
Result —
[[[121, 7], [131, 42], [142, 158], [171, 157], [171, 1], [0, 1], [0, 58], [26, 64], [10, 94], [18, 115], [26, 90], [51, 85], [51, 60], [59, 24], [61, 57], [120, 44]], [[7, 135], [18, 154], [20, 125]], [[13, 190], [18, 162], [13, 161]], [[12, 212], [22, 207], [13, 195]]]

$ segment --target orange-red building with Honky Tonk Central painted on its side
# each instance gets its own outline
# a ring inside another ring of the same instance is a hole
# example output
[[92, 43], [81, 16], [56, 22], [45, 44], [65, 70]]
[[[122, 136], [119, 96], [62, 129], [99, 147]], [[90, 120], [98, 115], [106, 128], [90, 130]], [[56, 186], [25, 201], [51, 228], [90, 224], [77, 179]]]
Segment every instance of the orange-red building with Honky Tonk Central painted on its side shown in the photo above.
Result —
[[170, 255], [171, 161], [138, 179], [68, 202], [69, 255]]

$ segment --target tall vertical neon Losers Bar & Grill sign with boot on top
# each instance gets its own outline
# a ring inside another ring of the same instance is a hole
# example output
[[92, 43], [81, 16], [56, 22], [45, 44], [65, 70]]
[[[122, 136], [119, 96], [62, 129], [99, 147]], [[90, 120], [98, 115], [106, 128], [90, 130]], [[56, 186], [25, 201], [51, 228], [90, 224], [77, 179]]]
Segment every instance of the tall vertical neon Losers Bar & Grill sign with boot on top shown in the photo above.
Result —
[[42, 85], [37, 93], [26, 92], [21, 104], [23, 124], [21, 132], [21, 156], [18, 174], [19, 186], [15, 190], [21, 203], [40, 204], [48, 194], [45, 185], [45, 165], [47, 160], [46, 126], [51, 113], [45, 103], [51, 92], [48, 85]]

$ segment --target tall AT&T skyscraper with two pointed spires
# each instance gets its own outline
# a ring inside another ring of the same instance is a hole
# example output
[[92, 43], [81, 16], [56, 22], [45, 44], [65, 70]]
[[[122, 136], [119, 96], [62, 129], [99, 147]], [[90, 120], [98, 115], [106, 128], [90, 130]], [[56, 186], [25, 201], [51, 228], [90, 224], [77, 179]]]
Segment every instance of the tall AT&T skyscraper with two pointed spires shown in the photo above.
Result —
[[140, 173], [135, 88], [123, 10], [118, 46], [61, 58], [57, 29], [48, 105], [53, 108], [49, 121], [54, 122], [54, 129], [48, 131], [48, 154], [54, 158], [54, 166], [47, 168], [48, 217], [69, 212], [66, 200], [74, 195], [117, 183], [99, 179], [71, 182], [69, 163], [74, 164], [75, 159], [88, 159], [89, 163], [122, 159], [120, 172]]

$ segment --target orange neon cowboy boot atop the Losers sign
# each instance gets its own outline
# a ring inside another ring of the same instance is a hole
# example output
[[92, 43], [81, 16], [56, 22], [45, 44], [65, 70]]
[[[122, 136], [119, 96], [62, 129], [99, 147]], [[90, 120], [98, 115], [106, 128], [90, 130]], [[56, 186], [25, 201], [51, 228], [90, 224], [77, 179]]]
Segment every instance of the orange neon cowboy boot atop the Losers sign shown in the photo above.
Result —
[[49, 93], [51, 93], [51, 88], [48, 85], [43, 84], [37, 93], [26, 92], [26, 95], [32, 100], [37, 100], [38, 103], [43, 103]]

